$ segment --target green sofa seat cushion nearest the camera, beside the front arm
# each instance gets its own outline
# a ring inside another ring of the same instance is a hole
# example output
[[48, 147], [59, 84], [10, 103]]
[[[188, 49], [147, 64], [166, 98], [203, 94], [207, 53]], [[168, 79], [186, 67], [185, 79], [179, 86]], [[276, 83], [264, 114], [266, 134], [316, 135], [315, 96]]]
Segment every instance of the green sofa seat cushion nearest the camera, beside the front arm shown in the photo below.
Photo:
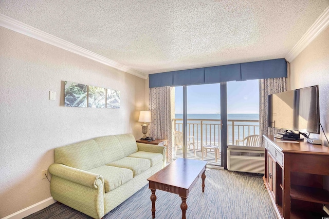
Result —
[[133, 171], [130, 169], [106, 165], [88, 170], [88, 172], [103, 176], [105, 192], [116, 189], [133, 178]]

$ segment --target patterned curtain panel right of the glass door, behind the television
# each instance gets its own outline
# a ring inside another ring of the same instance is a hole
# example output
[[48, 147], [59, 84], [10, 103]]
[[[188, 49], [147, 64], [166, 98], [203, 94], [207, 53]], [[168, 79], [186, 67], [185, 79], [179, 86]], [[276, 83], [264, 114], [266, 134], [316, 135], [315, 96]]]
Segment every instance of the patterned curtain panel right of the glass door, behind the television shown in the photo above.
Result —
[[260, 134], [260, 147], [264, 147], [263, 134], [275, 134], [282, 131], [281, 129], [269, 128], [267, 115], [268, 105], [267, 96], [273, 93], [280, 93], [287, 91], [287, 78], [267, 78], [259, 79], [259, 134]]

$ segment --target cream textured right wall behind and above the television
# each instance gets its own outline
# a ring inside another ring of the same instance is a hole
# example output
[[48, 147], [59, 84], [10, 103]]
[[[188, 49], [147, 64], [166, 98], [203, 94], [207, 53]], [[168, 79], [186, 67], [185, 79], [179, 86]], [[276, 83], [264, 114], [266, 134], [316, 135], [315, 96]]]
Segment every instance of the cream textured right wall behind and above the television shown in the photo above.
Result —
[[[319, 85], [320, 123], [329, 138], [329, 27], [290, 63], [291, 89], [313, 85]], [[328, 146], [322, 130], [311, 136]]]

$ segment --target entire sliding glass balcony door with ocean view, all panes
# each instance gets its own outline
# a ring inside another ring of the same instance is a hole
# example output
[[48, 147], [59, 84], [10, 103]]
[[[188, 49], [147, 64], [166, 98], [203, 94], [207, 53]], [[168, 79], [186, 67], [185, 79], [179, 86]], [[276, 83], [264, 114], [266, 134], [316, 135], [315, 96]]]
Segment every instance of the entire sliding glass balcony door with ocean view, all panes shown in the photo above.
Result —
[[178, 146], [176, 158], [226, 167], [228, 145], [246, 145], [248, 136], [259, 135], [258, 80], [174, 90], [173, 131], [180, 133], [179, 144], [183, 145]]

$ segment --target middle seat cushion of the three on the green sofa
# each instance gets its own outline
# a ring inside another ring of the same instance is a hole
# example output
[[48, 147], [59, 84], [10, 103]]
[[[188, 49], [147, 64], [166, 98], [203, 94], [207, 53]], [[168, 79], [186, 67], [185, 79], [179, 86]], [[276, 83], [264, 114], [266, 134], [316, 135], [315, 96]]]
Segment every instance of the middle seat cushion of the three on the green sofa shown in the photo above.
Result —
[[124, 157], [118, 161], [106, 164], [108, 166], [126, 168], [133, 171], [133, 177], [151, 167], [151, 161], [143, 158]]

